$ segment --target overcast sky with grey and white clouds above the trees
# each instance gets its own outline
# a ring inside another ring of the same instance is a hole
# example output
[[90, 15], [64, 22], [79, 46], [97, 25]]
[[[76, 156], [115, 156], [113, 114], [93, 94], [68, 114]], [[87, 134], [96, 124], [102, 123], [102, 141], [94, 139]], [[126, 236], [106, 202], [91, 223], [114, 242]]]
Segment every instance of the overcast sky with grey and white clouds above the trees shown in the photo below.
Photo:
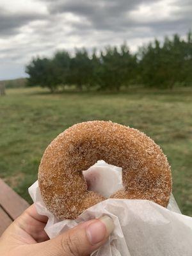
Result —
[[36, 56], [127, 42], [132, 52], [155, 37], [192, 29], [192, 0], [0, 0], [0, 80], [25, 77]]

